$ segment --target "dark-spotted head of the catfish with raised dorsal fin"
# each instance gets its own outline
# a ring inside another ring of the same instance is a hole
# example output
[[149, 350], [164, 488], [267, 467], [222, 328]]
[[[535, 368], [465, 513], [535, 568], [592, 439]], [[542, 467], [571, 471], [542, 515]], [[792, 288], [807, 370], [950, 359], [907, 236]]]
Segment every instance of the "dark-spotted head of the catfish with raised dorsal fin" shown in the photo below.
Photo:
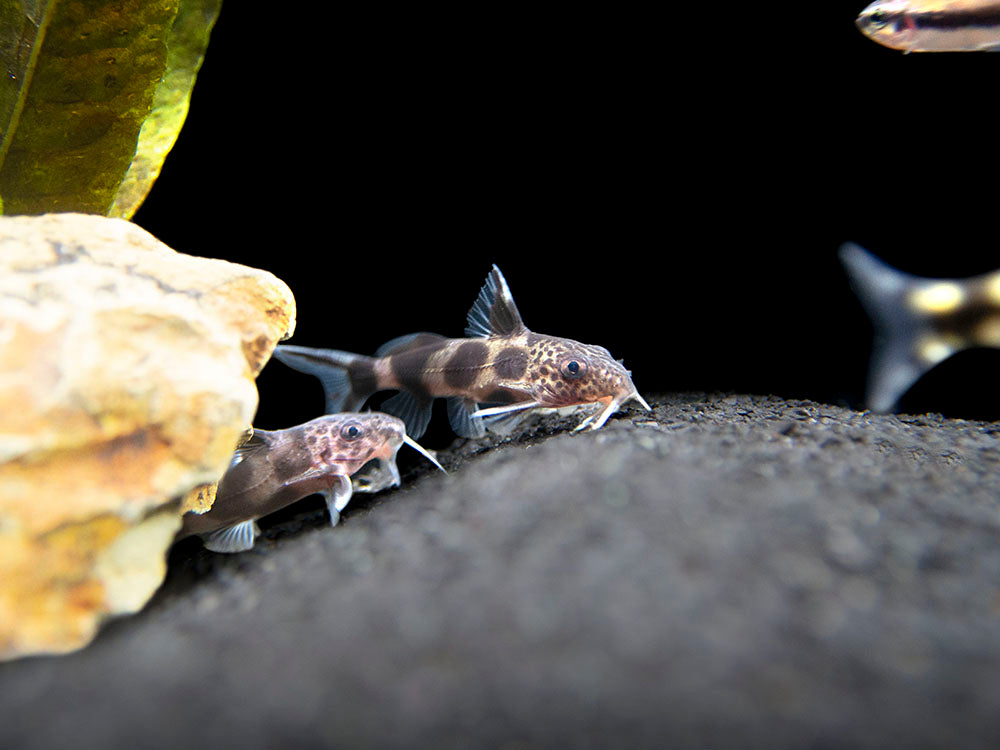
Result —
[[649, 408], [632, 383], [632, 373], [603, 346], [554, 336], [534, 338], [529, 343], [526, 380], [539, 406], [603, 406], [599, 414], [582, 425], [590, 424], [593, 429], [603, 425], [627, 401], [635, 399]]

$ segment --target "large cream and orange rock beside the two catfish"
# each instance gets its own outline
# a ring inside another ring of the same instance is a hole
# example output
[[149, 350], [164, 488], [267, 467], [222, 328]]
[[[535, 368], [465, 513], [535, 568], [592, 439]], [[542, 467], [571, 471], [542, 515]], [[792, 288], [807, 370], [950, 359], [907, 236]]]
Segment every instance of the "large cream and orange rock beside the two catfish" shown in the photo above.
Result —
[[294, 320], [271, 274], [127, 221], [0, 217], [0, 658], [143, 605]]

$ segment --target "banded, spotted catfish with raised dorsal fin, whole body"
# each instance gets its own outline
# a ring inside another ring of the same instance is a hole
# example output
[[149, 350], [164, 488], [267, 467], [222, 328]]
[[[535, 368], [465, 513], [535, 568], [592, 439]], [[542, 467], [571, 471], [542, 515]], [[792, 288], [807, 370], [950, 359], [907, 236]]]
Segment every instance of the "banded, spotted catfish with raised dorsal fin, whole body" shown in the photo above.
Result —
[[424, 434], [435, 398], [448, 399], [452, 428], [480, 437], [513, 427], [528, 409], [583, 407], [590, 414], [576, 429], [601, 427], [625, 402], [649, 405], [631, 373], [601, 346], [529, 331], [500, 269], [493, 270], [469, 311], [465, 339], [415, 333], [393, 339], [374, 357], [334, 349], [279, 346], [275, 356], [316, 375], [327, 412], [354, 410], [373, 393], [398, 390], [382, 405]]

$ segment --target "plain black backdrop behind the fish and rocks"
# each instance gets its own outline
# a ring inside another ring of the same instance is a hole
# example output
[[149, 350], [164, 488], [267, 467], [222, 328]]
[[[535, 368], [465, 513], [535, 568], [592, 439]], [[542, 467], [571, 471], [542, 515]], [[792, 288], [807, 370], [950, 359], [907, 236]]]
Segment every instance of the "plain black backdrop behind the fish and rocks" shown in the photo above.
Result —
[[[837, 247], [1000, 266], [1000, 56], [882, 48], [860, 3], [674, 5], [230, 2], [135, 221], [285, 280], [296, 344], [461, 336], [496, 263], [530, 328], [643, 393], [858, 407], [871, 328]], [[901, 406], [1000, 419], [998, 376], [968, 351]], [[280, 363], [259, 384], [260, 427], [321, 411]]]

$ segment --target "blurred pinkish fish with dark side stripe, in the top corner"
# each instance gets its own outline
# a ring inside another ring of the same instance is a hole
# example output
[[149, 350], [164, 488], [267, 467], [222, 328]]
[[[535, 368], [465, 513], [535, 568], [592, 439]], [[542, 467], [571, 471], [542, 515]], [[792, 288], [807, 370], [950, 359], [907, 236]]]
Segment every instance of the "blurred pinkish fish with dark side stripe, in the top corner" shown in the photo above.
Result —
[[1000, 0], [875, 0], [855, 23], [903, 52], [1000, 51]]

